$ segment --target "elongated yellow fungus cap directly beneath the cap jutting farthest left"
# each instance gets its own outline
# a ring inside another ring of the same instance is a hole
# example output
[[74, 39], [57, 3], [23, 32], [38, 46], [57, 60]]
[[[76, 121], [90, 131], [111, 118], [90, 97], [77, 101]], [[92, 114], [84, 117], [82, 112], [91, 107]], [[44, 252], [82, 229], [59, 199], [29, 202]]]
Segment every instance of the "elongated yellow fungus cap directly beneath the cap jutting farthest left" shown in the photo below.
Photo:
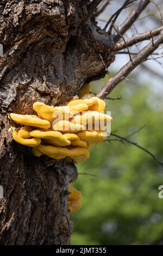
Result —
[[71, 144], [71, 141], [66, 139], [61, 132], [53, 131], [53, 130], [42, 130], [36, 129], [30, 132], [30, 136], [35, 138], [45, 139], [45, 142], [49, 142], [52, 144], [60, 145], [60, 146], [67, 146]]

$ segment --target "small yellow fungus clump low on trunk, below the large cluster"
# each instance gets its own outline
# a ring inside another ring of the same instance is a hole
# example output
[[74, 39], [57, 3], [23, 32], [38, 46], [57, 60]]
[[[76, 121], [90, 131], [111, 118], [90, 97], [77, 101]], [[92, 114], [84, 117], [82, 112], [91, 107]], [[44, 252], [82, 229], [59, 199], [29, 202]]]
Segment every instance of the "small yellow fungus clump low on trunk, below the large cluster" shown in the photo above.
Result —
[[74, 212], [82, 208], [82, 203], [79, 202], [81, 199], [81, 193], [74, 187], [69, 186], [70, 194], [67, 197], [68, 211]]

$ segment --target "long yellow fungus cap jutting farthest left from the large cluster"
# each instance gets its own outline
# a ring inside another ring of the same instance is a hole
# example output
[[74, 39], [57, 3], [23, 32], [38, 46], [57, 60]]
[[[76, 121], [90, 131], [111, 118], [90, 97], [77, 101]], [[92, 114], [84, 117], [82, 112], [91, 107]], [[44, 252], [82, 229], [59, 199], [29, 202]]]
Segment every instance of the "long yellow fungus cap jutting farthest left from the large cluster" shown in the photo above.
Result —
[[42, 129], [48, 129], [51, 127], [49, 121], [37, 117], [37, 115], [21, 115], [21, 114], [10, 114], [10, 119], [18, 124], [39, 127]]

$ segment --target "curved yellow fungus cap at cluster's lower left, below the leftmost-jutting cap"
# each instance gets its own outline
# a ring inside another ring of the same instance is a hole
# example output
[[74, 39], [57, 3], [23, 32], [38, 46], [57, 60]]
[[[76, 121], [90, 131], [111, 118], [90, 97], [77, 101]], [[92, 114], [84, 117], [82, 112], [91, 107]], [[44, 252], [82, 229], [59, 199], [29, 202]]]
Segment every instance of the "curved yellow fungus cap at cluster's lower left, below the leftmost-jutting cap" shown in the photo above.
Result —
[[28, 147], [36, 147], [41, 143], [41, 139], [39, 138], [30, 138], [30, 139], [23, 139], [17, 135], [16, 131], [12, 132], [12, 138], [19, 144], [28, 146]]

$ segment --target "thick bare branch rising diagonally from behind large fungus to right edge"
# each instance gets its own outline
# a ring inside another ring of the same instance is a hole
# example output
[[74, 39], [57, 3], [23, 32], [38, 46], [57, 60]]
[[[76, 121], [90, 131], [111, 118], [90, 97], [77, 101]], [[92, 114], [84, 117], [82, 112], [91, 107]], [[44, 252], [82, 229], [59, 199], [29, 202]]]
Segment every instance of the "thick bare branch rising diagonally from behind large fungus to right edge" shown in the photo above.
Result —
[[111, 77], [110, 80], [105, 84], [101, 91], [97, 94], [97, 97], [105, 99], [105, 97], [114, 89], [118, 83], [123, 81], [131, 71], [133, 71], [136, 66], [144, 62], [149, 55], [151, 55], [156, 48], [163, 42], [163, 31], [156, 36], [153, 42], [150, 42], [147, 46], [142, 48], [142, 50], [132, 59], [132, 62], [128, 62], [124, 65], [114, 77]]

